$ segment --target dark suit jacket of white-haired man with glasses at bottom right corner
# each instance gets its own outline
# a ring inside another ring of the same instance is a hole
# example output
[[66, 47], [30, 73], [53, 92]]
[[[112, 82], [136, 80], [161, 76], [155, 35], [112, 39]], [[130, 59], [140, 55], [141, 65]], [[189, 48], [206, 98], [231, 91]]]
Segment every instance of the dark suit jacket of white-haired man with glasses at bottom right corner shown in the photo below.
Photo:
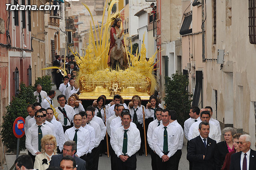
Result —
[[[240, 166], [241, 152], [231, 155], [230, 170], [241, 170]], [[256, 151], [251, 149], [249, 170], [256, 170]]]

